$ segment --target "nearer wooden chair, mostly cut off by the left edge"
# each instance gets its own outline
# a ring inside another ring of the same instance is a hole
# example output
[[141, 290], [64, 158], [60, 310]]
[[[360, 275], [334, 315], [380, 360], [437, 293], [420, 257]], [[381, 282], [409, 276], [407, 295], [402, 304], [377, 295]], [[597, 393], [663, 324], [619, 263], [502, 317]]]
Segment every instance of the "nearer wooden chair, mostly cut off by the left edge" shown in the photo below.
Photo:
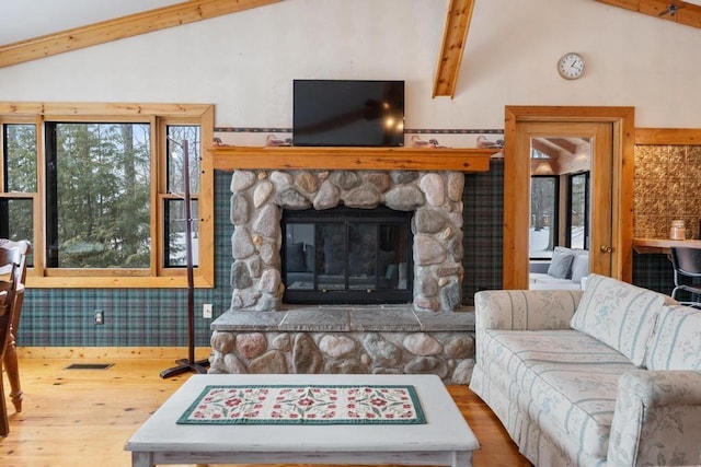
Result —
[[[20, 268], [21, 258], [19, 248], [0, 248], [0, 357], [3, 359], [10, 340], [10, 327], [16, 303], [16, 270]], [[4, 385], [0, 377], [0, 436], [7, 436], [9, 432]]]

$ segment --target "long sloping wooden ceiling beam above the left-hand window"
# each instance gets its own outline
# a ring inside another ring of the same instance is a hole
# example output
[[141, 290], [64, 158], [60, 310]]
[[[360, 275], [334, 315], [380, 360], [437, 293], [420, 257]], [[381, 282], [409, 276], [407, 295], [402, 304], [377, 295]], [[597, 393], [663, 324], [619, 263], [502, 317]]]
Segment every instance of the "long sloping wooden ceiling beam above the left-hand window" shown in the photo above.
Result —
[[235, 13], [281, 0], [189, 0], [0, 46], [0, 67]]

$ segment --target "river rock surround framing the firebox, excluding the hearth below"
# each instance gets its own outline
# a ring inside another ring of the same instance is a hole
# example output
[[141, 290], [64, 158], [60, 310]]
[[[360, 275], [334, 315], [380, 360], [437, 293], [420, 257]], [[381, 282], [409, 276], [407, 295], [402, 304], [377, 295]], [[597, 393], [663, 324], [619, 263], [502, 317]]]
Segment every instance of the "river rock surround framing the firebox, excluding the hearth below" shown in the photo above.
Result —
[[235, 171], [230, 207], [231, 310], [280, 310], [283, 210], [341, 205], [414, 211], [413, 308], [456, 310], [463, 275], [463, 179], [457, 172]]

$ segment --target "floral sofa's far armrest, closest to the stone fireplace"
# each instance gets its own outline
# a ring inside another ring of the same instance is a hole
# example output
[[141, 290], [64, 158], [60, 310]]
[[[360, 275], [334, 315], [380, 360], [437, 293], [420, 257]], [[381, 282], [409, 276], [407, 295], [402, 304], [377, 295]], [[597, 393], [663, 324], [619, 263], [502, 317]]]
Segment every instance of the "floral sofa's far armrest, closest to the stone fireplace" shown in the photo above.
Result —
[[570, 329], [579, 290], [483, 290], [474, 294], [475, 334], [485, 329]]

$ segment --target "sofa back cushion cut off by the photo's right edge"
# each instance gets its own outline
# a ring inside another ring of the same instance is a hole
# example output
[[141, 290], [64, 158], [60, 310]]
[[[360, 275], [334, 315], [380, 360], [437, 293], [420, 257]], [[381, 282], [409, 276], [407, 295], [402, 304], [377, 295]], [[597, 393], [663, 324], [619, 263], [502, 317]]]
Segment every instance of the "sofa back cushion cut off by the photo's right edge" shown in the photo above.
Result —
[[664, 306], [645, 364], [648, 370], [701, 371], [701, 310]]

